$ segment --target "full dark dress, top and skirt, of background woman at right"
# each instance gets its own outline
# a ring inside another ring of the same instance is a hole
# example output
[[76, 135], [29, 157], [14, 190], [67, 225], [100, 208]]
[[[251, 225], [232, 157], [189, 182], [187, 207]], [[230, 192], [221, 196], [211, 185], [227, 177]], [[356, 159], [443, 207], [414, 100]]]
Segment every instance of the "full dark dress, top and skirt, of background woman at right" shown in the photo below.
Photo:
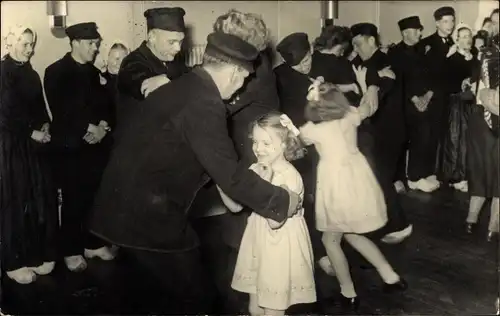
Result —
[[472, 92], [462, 92], [462, 81], [471, 78], [478, 63], [455, 53], [450, 57], [449, 100], [447, 129], [443, 133], [437, 152], [437, 175], [439, 180], [456, 183], [466, 179], [466, 131], [473, 106]]

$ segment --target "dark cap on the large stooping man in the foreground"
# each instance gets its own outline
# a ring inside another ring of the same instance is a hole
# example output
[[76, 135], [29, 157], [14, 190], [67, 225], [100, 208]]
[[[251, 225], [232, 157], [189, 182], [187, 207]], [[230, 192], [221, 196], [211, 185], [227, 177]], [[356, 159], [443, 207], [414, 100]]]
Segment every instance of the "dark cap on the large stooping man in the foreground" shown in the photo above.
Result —
[[205, 54], [254, 72], [254, 61], [259, 51], [238, 36], [213, 32], [207, 36]]

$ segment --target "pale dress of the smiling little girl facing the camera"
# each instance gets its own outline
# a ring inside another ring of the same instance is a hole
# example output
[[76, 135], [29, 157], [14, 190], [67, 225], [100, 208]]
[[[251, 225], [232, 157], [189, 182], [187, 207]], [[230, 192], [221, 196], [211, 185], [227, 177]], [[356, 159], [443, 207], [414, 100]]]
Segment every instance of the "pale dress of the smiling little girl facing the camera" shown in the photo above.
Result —
[[[272, 184], [286, 185], [304, 197], [302, 178], [290, 164], [275, 172]], [[252, 213], [243, 235], [233, 275], [233, 289], [256, 294], [258, 305], [275, 310], [316, 301], [314, 263], [304, 209], [272, 229], [264, 217]]]

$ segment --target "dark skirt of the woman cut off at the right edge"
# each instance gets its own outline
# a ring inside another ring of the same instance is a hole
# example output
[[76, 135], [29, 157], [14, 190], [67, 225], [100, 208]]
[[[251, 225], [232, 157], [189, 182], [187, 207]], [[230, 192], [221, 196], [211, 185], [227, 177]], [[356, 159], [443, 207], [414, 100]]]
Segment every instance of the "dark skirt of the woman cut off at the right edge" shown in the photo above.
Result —
[[482, 106], [474, 105], [467, 131], [469, 194], [499, 197], [499, 139], [484, 120]]

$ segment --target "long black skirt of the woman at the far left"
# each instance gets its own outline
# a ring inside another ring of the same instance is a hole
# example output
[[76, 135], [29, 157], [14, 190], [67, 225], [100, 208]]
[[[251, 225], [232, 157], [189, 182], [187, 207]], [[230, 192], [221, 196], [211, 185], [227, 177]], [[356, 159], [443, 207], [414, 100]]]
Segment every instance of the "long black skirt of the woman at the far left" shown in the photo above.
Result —
[[56, 256], [57, 193], [46, 146], [0, 132], [2, 269], [33, 267]]

